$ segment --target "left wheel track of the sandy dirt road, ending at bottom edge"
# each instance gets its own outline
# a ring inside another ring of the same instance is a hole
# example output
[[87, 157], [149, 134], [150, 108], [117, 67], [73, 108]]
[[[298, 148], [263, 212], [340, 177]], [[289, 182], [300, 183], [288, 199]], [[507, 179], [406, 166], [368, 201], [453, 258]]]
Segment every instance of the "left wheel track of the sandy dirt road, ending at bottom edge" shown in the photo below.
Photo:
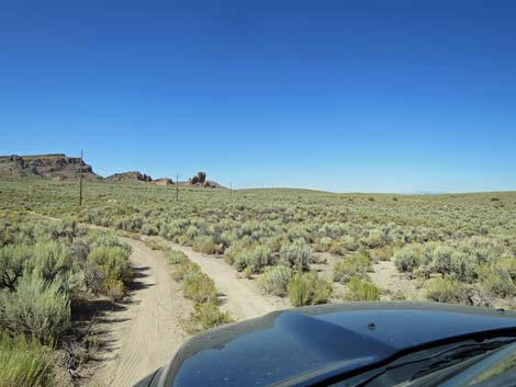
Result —
[[90, 371], [89, 387], [133, 386], [169, 362], [187, 339], [180, 321], [192, 306], [171, 281], [166, 260], [141, 241], [123, 241], [133, 248], [136, 278], [127, 303], [97, 327], [109, 346], [100, 352], [99, 367]]

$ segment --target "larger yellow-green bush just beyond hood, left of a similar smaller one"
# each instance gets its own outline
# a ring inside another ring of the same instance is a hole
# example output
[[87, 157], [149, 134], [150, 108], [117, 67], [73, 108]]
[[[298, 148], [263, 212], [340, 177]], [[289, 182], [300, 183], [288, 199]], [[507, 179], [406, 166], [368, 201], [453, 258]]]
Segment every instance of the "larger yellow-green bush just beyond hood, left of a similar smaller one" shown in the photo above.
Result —
[[332, 285], [321, 280], [317, 272], [296, 273], [289, 284], [289, 296], [292, 306], [316, 305], [327, 303]]

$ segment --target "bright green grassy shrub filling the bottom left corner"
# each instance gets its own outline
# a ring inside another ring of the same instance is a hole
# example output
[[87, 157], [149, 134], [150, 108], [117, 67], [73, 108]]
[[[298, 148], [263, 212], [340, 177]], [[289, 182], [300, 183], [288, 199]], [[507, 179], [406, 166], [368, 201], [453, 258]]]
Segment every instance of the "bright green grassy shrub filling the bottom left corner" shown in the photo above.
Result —
[[0, 332], [0, 387], [54, 387], [52, 349], [35, 338]]

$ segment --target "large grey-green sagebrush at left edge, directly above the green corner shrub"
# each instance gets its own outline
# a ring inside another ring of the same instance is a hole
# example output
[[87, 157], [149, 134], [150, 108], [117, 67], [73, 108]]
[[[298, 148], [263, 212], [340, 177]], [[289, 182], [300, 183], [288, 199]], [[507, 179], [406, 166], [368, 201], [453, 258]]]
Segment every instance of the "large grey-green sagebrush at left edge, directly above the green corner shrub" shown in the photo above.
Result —
[[70, 300], [56, 278], [25, 272], [16, 291], [0, 292], [0, 326], [13, 333], [34, 334], [42, 342], [60, 337], [70, 323]]

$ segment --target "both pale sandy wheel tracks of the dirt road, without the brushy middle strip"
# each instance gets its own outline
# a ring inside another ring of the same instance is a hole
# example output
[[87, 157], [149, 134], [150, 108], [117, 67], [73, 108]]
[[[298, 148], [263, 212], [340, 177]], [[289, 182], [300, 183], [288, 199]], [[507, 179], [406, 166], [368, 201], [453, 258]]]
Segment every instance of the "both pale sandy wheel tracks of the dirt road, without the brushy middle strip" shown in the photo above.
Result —
[[[131, 262], [136, 278], [121, 310], [106, 312], [97, 327], [109, 344], [100, 351], [98, 366], [89, 371], [88, 387], [133, 386], [169, 362], [188, 338], [181, 321], [190, 316], [192, 304], [182, 296], [180, 284], [172, 281], [162, 253], [138, 240], [122, 240], [133, 248]], [[221, 308], [235, 320], [288, 307], [284, 300], [261, 295], [253, 281], [237, 278], [224, 260], [167, 243], [183, 251], [213, 278], [221, 293]]]

